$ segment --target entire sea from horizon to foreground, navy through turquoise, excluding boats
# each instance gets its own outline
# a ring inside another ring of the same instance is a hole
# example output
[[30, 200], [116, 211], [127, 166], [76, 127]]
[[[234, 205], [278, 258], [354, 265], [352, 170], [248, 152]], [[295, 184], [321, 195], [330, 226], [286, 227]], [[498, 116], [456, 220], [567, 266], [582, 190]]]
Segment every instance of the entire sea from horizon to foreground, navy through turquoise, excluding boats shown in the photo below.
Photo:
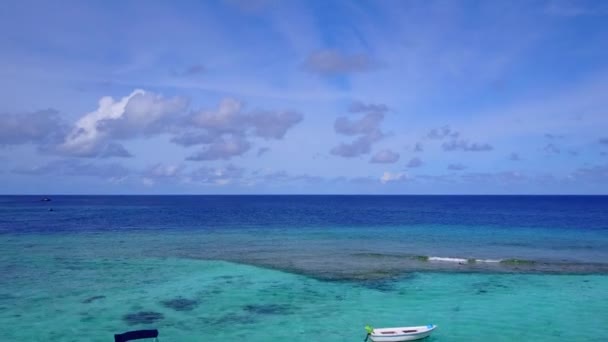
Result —
[[0, 341], [608, 341], [608, 196], [0, 196]]

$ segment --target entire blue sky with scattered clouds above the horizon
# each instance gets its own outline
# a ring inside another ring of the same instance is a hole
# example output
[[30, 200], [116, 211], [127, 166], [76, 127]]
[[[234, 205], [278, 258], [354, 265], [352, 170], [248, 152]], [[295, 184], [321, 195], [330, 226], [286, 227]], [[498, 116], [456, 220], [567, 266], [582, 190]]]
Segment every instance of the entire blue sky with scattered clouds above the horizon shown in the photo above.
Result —
[[3, 194], [607, 194], [606, 1], [0, 3]]

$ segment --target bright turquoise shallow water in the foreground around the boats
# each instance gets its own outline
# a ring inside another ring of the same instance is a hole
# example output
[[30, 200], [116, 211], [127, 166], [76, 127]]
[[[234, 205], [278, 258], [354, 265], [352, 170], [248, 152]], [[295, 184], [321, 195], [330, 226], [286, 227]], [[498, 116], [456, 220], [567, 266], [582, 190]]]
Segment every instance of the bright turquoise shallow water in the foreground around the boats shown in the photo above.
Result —
[[162, 341], [361, 341], [368, 323], [438, 324], [430, 341], [608, 336], [605, 275], [404, 272], [325, 280], [158, 256], [152, 241], [171, 246], [180, 235], [138, 234], [1, 236], [0, 340], [108, 341], [115, 332], [155, 327]]

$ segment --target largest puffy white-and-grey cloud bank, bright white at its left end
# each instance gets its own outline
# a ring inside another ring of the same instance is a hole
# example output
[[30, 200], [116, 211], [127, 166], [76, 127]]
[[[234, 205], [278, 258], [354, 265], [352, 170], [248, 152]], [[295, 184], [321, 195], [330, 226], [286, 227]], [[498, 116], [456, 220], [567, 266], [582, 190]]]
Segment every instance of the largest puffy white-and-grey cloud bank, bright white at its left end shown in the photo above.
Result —
[[291, 110], [248, 113], [233, 98], [223, 99], [214, 110], [186, 114], [187, 108], [185, 98], [165, 98], [140, 89], [119, 100], [106, 96], [48, 149], [76, 157], [131, 157], [117, 141], [169, 134], [176, 144], [203, 146], [189, 160], [230, 159], [247, 152], [252, 139], [283, 139], [303, 119]]

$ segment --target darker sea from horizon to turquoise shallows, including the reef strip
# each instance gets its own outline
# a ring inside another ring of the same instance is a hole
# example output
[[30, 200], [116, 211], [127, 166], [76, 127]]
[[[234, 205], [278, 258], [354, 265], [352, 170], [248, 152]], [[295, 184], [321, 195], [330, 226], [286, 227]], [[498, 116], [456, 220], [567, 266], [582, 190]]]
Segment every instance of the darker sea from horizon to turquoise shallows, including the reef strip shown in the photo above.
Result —
[[[331, 258], [353, 270], [453, 270], [449, 258], [464, 258], [516, 261], [506, 268], [477, 262], [460, 267], [465, 271], [608, 271], [606, 196], [41, 198], [0, 197], [0, 232], [105, 232], [110, 239], [143, 232], [139, 239], [159, 255], [308, 273], [315, 269], [302, 259]], [[158, 236], [165, 237], [161, 244], [146, 242]], [[419, 262], [426, 257], [439, 262]]]

